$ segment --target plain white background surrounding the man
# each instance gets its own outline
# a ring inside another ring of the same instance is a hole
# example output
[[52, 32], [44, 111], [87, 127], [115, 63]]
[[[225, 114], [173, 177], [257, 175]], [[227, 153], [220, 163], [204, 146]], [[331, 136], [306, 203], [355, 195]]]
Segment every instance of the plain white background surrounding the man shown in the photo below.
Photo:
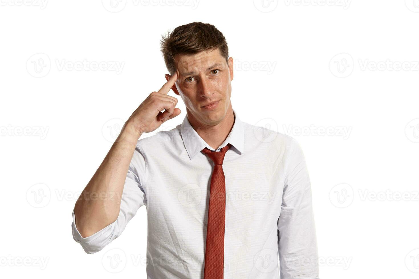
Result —
[[94, 255], [71, 212], [166, 81], [160, 36], [202, 21], [227, 38], [241, 120], [303, 148], [321, 278], [417, 278], [419, 1], [166, 1], [0, 0], [2, 277], [145, 278], [145, 207]]

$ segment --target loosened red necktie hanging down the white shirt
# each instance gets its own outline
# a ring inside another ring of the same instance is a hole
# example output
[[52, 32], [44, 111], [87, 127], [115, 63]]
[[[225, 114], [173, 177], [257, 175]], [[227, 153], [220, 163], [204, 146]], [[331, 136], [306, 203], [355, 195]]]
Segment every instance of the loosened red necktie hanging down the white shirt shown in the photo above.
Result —
[[224, 228], [225, 228], [225, 177], [222, 162], [231, 144], [212, 152], [208, 148], [202, 152], [214, 162], [209, 189], [207, 244], [205, 246], [204, 279], [224, 278]]

